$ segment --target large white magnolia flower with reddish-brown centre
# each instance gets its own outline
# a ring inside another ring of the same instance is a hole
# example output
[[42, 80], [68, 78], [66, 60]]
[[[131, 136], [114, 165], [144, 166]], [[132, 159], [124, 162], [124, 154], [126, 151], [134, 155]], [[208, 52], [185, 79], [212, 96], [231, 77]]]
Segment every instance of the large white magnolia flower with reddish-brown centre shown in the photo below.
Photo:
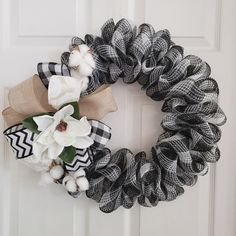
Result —
[[91, 125], [86, 117], [76, 120], [71, 115], [72, 105], [57, 111], [54, 116], [42, 115], [33, 117], [41, 133], [33, 141], [33, 153], [40, 159], [56, 159], [64, 147], [74, 146], [84, 149], [93, 144], [88, 135]]

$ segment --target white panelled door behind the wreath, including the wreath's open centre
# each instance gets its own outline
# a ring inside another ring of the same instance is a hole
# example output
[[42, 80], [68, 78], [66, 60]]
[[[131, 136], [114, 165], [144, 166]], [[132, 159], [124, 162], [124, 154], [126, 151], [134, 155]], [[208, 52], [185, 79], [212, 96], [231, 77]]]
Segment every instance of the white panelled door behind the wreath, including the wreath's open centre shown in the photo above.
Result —
[[[98, 33], [108, 18], [125, 17], [169, 29], [186, 54], [208, 61], [228, 116], [221, 159], [194, 187], [155, 208], [135, 205], [111, 214], [85, 197], [72, 199], [60, 186], [39, 186], [37, 173], [15, 161], [0, 136], [0, 235], [235, 235], [235, 12], [235, 0], [0, 0], [1, 110], [8, 88], [36, 73], [38, 62], [59, 62], [72, 36]], [[149, 150], [161, 133], [161, 105], [146, 98], [138, 85], [113, 87], [119, 110], [104, 119], [113, 128], [110, 147]]]

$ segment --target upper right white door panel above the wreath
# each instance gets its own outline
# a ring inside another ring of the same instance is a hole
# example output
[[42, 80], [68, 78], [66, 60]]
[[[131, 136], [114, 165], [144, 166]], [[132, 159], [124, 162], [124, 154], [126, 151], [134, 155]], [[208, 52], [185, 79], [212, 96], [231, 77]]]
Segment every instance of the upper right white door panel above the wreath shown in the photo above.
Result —
[[170, 30], [173, 40], [189, 50], [219, 50], [222, 0], [140, 0], [135, 22]]

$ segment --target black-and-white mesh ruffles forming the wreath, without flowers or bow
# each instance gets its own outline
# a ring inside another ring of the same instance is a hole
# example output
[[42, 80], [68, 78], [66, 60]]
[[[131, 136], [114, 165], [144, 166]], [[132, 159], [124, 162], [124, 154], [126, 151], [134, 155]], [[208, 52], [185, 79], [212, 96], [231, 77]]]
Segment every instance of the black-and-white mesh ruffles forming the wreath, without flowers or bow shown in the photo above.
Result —
[[[104, 212], [130, 208], [136, 200], [156, 206], [175, 199], [185, 185], [195, 184], [199, 175], [207, 173], [208, 162], [220, 157], [219, 126], [226, 117], [218, 105], [219, 89], [209, 65], [197, 56], [184, 56], [168, 30], [156, 32], [149, 24], [136, 28], [126, 19], [117, 24], [108, 20], [101, 36], [72, 39], [72, 46], [84, 43], [92, 48], [96, 62], [85, 94], [119, 78], [128, 84], [137, 81], [151, 99], [164, 101], [166, 113], [161, 122], [164, 132], [152, 147], [151, 158], [127, 149], [95, 154], [87, 169], [87, 196]], [[68, 55], [62, 54], [64, 65]]]

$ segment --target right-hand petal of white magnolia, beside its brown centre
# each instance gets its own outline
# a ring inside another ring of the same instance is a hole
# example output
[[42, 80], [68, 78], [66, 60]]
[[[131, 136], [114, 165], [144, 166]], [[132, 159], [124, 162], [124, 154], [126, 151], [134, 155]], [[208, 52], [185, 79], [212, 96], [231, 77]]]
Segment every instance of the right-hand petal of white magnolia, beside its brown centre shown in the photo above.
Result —
[[64, 121], [67, 123], [66, 132], [72, 137], [87, 136], [91, 133], [91, 125], [86, 116], [82, 117], [80, 120], [68, 117]]

